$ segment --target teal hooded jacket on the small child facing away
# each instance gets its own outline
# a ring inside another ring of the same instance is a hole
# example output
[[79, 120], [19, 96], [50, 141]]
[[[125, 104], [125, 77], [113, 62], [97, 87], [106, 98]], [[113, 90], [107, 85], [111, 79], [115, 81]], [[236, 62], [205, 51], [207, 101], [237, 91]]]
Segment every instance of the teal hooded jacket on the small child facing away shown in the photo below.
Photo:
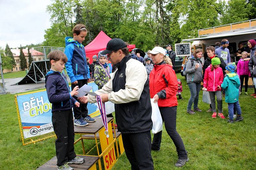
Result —
[[240, 80], [236, 73], [228, 73], [221, 84], [225, 90], [225, 102], [236, 103], [239, 97]]

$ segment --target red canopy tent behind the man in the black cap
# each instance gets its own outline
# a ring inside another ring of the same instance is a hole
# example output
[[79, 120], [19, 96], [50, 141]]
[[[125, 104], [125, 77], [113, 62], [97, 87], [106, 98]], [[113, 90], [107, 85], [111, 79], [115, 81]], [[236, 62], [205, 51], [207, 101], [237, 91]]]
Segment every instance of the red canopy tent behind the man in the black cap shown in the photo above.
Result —
[[[92, 40], [87, 46], [84, 47], [86, 57], [90, 58], [90, 63], [92, 63], [92, 56], [98, 55], [99, 51], [106, 50], [108, 41], [111, 38], [107, 36], [103, 31], [100, 31], [100, 33], [95, 37], [95, 39]], [[128, 46], [129, 51], [132, 51], [133, 48], [135, 48], [135, 45], [129, 45]]]

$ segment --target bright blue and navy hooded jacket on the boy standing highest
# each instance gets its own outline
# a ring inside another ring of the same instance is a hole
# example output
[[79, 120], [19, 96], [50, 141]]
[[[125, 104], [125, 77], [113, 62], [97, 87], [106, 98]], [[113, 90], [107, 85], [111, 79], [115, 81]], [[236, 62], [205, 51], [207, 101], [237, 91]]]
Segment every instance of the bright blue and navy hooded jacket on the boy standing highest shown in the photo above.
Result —
[[65, 54], [68, 57], [66, 70], [71, 82], [90, 78], [84, 46], [72, 37], [65, 38]]

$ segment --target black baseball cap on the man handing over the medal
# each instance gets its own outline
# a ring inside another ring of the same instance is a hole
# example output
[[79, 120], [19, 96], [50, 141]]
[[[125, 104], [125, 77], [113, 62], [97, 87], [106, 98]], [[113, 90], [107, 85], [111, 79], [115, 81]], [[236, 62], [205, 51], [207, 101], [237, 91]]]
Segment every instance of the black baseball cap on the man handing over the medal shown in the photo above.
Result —
[[126, 47], [126, 44], [122, 39], [111, 39], [110, 41], [108, 41], [106, 50], [102, 51], [101, 54], [105, 55], [124, 47]]

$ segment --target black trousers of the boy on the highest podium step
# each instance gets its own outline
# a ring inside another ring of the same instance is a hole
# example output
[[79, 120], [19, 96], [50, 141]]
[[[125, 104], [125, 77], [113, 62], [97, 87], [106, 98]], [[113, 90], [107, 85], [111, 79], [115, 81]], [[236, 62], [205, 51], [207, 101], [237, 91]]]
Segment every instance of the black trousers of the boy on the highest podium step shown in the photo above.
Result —
[[[71, 84], [71, 89], [73, 90], [76, 86], [81, 88], [84, 84], [88, 83], [88, 79], [83, 79], [83, 80], [77, 80], [77, 84]], [[76, 100], [77, 97], [73, 96]], [[78, 100], [77, 100], [78, 101]], [[88, 109], [87, 109], [87, 103], [80, 103], [79, 107], [74, 106], [73, 107], [74, 111], [74, 117], [75, 119], [80, 119], [81, 117], [86, 117], [88, 115]]]

